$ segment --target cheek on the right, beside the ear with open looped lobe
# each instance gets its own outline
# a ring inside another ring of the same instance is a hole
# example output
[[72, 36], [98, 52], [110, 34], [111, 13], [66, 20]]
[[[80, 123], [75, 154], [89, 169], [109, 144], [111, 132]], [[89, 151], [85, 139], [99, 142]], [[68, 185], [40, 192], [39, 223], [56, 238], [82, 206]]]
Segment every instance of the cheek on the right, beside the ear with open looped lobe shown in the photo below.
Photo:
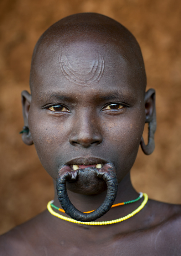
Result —
[[144, 129], [144, 113], [143, 117], [121, 116], [117, 121], [103, 122], [103, 127], [105, 138], [110, 145], [109, 154], [117, 163], [120, 181], [135, 162]]

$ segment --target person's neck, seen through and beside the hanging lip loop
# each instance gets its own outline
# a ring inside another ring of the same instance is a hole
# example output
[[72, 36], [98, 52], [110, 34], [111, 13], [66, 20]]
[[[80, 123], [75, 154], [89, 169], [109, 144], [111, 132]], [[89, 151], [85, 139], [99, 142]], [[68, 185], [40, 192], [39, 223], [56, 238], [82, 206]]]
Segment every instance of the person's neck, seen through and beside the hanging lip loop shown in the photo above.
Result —
[[[56, 205], [59, 208], [62, 208], [57, 199], [55, 181], [54, 181], [54, 187], [55, 187], [54, 205]], [[67, 192], [72, 204], [80, 211], [90, 211], [90, 210], [97, 209], [103, 203], [105, 196], [107, 194], [107, 190], [97, 195], [81, 195], [81, 194], [73, 193], [71, 191], [67, 191]], [[133, 188], [130, 180], [130, 173], [128, 173], [118, 185], [117, 197], [115, 199], [114, 204], [133, 200], [133, 199], [136, 199], [137, 197], [138, 197], [138, 193]], [[126, 208], [127, 208], [126, 210], [129, 211], [128, 208], [130, 207], [126, 207]], [[125, 209], [123, 209], [123, 214], [126, 214]], [[63, 215], [68, 216], [67, 214], [63, 214]], [[114, 211], [111, 209], [103, 217], [99, 218], [99, 221], [112, 220], [117, 217], [120, 217], [120, 209], [119, 211], [118, 209], [114, 209]]]

